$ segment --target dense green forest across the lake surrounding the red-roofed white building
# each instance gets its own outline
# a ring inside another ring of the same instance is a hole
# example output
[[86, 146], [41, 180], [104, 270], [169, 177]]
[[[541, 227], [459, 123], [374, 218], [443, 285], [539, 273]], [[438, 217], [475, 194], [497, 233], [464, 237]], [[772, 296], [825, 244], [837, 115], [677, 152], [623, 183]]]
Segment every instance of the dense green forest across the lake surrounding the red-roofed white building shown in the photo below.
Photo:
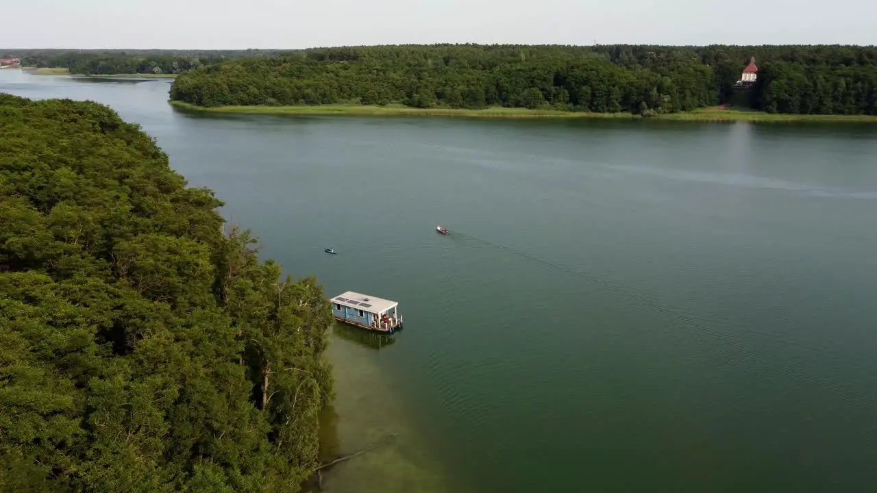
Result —
[[[735, 89], [755, 57], [759, 79]], [[404, 104], [649, 116], [716, 104], [877, 115], [874, 46], [404, 45], [313, 48], [204, 65], [171, 99], [198, 106]]]

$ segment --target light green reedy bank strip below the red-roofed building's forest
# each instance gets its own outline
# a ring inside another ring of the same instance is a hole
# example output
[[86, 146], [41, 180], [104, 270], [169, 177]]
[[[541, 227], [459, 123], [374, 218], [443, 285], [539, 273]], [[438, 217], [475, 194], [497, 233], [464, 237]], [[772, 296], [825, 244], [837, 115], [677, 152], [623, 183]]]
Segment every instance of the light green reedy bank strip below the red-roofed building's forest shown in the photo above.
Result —
[[[275, 116], [417, 116], [459, 118], [603, 118], [645, 119], [631, 113], [591, 113], [581, 111], [528, 110], [526, 108], [487, 108], [484, 110], [451, 108], [410, 108], [402, 105], [373, 106], [359, 104], [323, 104], [313, 106], [215, 106], [203, 107], [182, 101], [170, 101], [175, 108], [205, 113], [238, 113]], [[702, 108], [695, 111], [666, 113], [649, 119], [692, 122], [824, 122], [877, 123], [873, 115], [798, 115], [763, 111], [720, 110]]]

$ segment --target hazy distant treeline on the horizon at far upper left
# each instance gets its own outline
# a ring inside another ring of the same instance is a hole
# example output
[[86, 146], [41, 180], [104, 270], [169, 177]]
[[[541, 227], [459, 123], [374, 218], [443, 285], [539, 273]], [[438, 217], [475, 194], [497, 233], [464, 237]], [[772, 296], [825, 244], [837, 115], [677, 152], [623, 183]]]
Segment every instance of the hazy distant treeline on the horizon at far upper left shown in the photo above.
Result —
[[[7, 50], [9, 51], [9, 50]], [[279, 50], [12, 50], [22, 67], [67, 68], [71, 74], [182, 74], [245, 57], [282, 54]]]

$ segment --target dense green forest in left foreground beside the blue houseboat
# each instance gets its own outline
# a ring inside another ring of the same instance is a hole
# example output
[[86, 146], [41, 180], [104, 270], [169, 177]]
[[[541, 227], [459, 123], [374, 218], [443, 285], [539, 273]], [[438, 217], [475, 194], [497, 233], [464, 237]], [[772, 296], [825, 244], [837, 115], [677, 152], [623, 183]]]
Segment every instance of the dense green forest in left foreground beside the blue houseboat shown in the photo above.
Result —
[[0, 94], [0, 490], [289, 492], [332, 313], [106, 106]]

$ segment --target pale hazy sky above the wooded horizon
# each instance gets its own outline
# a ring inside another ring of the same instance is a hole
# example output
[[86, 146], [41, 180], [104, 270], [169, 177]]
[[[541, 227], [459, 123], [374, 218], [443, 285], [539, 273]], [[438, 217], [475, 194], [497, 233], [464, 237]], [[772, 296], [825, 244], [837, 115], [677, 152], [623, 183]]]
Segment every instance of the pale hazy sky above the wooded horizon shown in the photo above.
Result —
[[875, 0], [5, 0], [0, 47], [877, 44]]

